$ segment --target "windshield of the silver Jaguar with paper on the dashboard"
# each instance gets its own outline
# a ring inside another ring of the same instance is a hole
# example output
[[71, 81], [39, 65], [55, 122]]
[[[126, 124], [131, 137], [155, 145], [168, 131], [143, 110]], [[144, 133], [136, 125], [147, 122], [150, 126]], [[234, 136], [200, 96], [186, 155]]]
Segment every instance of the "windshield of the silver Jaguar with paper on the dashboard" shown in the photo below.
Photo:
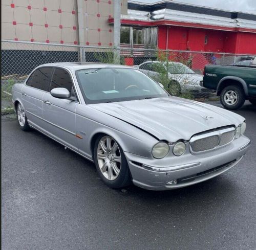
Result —
[[87, 104], [168, 96], [155, 81], [135, 69], [78, 70], [76, 77]]

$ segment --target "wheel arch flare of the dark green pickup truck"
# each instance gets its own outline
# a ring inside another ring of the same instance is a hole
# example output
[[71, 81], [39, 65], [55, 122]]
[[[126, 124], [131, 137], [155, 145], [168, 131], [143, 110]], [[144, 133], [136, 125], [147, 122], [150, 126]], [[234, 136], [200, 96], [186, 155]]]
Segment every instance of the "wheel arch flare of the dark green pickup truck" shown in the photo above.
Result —
[[239, 77], [234, 77], [234, 76], [227, 76], [222, 78], [217, 86], [217, 95], [220, 96], [222, 90], [227, 87], [228, 85], [236, 85], [236, 86], [240, 86], [243, 88], [245, 96], [248, 96], [248, 87], [247, 84], [245, 82], [245, 80], [243, 80], [242, 78]]

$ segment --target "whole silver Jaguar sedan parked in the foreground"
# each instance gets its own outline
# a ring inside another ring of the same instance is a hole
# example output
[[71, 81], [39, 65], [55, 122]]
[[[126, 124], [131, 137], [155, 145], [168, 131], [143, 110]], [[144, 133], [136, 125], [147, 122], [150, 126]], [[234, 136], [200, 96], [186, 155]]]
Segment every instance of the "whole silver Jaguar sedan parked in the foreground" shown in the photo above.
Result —
[[96, 165], [111, 188], [186, 187], [237, 165], [248, 150], [245, 119], [170, 96], [123, 65], [38, 66], [12, 98], [18, 124], [37, 129]]

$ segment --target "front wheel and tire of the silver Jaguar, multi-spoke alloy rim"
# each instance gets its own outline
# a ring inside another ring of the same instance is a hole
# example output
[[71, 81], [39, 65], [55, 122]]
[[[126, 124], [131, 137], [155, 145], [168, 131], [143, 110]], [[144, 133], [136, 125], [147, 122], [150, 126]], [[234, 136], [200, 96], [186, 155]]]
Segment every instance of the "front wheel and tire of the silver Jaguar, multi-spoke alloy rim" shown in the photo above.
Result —
[[101, 135], [94, 146], [94, 162], [102, 181], [110, 188], [131, 185], [131, 175], [123, 150], [109, 135]]

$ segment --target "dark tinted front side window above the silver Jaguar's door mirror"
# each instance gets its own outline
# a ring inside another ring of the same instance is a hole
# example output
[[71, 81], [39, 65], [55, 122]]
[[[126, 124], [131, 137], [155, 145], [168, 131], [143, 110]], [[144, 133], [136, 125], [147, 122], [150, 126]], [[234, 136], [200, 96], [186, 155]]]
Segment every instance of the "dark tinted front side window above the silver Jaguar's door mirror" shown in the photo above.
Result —
[[53, 72], [51, 90], [56, 87], [65, 87], [71, 92], [72, 80], [69, 73], [66, 70], [55, 69]]

